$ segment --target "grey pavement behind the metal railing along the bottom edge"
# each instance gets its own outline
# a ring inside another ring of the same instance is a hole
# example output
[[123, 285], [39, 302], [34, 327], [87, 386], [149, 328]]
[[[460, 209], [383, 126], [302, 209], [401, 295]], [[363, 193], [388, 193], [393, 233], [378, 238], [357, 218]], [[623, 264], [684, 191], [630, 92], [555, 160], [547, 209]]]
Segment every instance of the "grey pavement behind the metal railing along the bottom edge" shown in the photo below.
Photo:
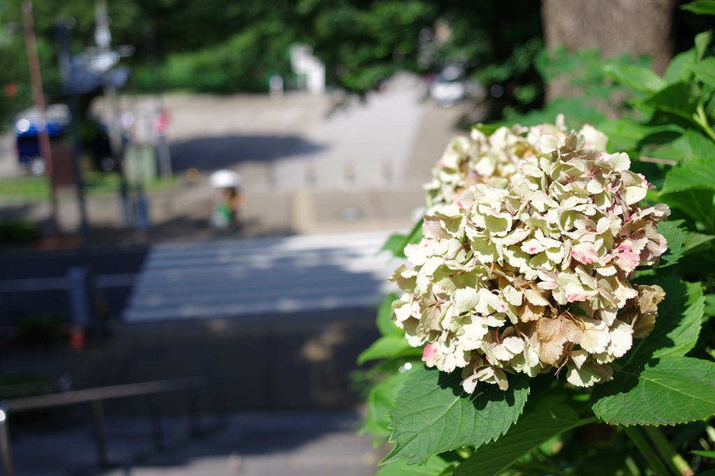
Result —
[[[206, 415], [204, 428], [213, 424]], [[360, 417], [313, 412], [232, 414], [222, 429], [192, 439], [186, 417], [162, 419], [166, 450], [152, 447], [149, 417], [107, 417], [107, 458], [97, 464], [91, 422], [13, 433], [16, 474], [21, 476], [371, 476], [385, 456]]]

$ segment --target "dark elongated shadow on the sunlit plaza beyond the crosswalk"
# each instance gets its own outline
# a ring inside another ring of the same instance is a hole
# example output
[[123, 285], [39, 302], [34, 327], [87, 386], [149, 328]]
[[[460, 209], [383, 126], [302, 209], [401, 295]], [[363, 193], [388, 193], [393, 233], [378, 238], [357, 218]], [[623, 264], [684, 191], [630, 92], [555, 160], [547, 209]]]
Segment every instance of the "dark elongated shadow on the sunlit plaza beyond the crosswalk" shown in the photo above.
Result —
[[174, 172], [189, 168], [215, 170], [239, 162], [274, 160], [292, 155], [305, 155], [325, 149], [325, 146], [293, 136], [229, 136], [201, 137], [169, 145]]

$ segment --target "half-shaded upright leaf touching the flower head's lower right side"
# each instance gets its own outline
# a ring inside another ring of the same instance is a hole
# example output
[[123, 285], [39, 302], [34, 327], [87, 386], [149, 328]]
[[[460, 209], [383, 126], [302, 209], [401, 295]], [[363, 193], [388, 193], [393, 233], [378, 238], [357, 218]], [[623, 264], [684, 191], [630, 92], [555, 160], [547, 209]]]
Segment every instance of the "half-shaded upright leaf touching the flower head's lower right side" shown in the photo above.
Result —
[[656, 326], [644, 339], [637, 339], [623, 357], [626, 366], [654, 357], [678, 357], [691, 351], [702, 326], [705, 298], [701, 283], [686, 283], [676, 278], [657, 281], [666, 291], [658, 306]]

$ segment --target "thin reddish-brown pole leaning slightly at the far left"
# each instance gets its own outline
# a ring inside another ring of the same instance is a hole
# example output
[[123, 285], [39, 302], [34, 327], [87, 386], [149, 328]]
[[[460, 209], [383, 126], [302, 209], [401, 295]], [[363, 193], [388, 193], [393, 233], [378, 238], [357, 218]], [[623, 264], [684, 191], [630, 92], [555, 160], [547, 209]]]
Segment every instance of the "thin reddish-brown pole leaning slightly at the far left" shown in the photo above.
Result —
[[32, 84], [32, 98], [34, 99], [35, 107], [39, 113], [40, 120], [44, 123], [44, 127], [38, 130], [38, 143], [40, 146], [40, 155], [45, 162], [45, 172], [49, 177], [50, 183], [50, 227], [51, 233], [57, 235], [59, 233], [59, 225], [57, 223], [57, 190], [53, 179], [52, 167], [52, 152], [49, 145], [49, 133], [47, 132], [47, 117], [45, 115], [44, 92], [42, 91], [42, 77], [40, 74], [40, 62], [37, 56], [37, 42], [35, 39], [35, 24], [32, 17], [32, 1], [26, 0], [22, 4], [22, 20], [25, 30], [25, 47], [27, 50], [27, 64], [30, 69], [30, 82]]

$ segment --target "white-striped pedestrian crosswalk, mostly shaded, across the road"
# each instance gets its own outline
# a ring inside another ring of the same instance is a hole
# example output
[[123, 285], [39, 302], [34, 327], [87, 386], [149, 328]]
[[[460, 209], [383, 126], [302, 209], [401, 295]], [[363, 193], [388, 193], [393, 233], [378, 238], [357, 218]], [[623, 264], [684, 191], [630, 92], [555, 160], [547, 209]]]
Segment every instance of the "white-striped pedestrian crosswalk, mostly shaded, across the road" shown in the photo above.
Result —
[[163, 243], [147, 254], [124, 321], [290, 314], [375, 306], [398, 266], [389, 233]]

